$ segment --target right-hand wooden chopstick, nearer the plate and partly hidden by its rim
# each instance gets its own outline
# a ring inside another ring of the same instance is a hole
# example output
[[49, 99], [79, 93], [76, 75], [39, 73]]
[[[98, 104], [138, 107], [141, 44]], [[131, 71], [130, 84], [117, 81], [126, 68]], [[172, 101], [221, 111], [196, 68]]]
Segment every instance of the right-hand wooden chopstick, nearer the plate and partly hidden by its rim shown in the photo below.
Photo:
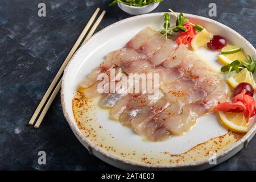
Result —
[[[98, 27], [98, 25], [100, 24], [101, 20], [103, 19], [104, 15], [105, 15], [106, 11], [102, 11], [101, 15], [98, 17], [98, 19], [96, 20], [96, 22], [94, 23], [93, 27], [91, 28], [90, 32], [88, 33], [88, 35], [86, 36], [84, 42], [86, 40], [88, 40], [95, 32], [96, 28]], [[43, 121], [44, 116], [46, 115], [49, 106], [51, 106], [52, 101], [54, 100], [54, 98], [56, 97], [56, 94], [59, 92], [60, 88], [61, 88], [61, 82], [62, 82], [62, 77], [60, 79], [60, 81], [58, 82], [56, 88], [53, 90], [51, 97], [49, 98], [49, 100], [47, 101], [46, 105], [44, 106], [44, 109], [42, 111], [42, 113], [40, 114], [38, 121], [36, 121], [35, 123], [35, 128], [38, 129], [38, 127], [40, 126], [40, 124]]]

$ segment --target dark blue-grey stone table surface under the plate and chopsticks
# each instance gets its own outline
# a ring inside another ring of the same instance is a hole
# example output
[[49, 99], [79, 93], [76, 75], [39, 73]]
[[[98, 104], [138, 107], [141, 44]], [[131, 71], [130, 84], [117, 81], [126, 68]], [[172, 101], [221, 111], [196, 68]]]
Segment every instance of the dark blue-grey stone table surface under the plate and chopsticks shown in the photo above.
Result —
[[[38, 4], [46, 4], [46, 17], [38, 16]], [[0, 1], [0, 169], [16, 170], [113, 170], [92, 156], [72, 133], [58, 94], [40, 129], [28, 126], [63, 60], [85, 23], [100, 7], [107, 13], [97, 28], [130, 17], [110, 0], [1, 0]], [[215, 2], [217, 17], [256, 46], [256, 1], [164, 0], [153, 12], [171, 8], [208, 17]], [[208, 17], [209, 18], [209, 17]], [[256, 137], [233, 158], [211, 170], [256, 169]], [[46, 151], [47, 164], [38, 164], [38, 152]]]

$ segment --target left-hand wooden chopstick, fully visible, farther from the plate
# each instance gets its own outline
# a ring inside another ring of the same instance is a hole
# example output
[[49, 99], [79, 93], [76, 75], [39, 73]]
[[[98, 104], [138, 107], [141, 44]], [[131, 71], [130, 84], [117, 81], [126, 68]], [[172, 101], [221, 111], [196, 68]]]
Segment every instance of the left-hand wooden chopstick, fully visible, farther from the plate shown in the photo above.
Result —
[[51, 92], [52, 92], [53, 88], [55, 87], [57, 81], [59, 80], [60, 76], [62, 75], [62, 73], [64, 71], [64, 68], [66, 67], [66, 65], [68, 64], [69, 60], [71, 59], [71, 57], [75, 53], [76, 49], [79, 47], [80, 43], [82, 42], [82, 39], [84, 39], [84, 36], [87, 33], [87, 31], [89, 30], [90, 26], [92, 26], [92, 23], [93, 23], [94, 19], [96, 18], [96, 16], [97, 16], [99, 11], [100, 11], [100, 9], [97, 8], [96, 11], [93, 13], [92, 17], [89, 19], [89, 22], [84, 27], [84, 30], [82, 30], [79, 38], [76, 40], [75, 45], [72, 47], [72, 49], [69, 52], [68, 56], [64, 60], [64, 63], [61, 65], [61, 67], [60, 67], [59, 71], [57, 72], [55, 78], [53, 79], [51, 85], [47, 89], [47, 91], [44, 94], [42, 100], [40, 101], [38, 107], [36, 108], [35, 113], [32, 115], [30, 121], [28, 122], [28, 125], [33, 125], [34, 124], [35, 119], [38, 117], [38, 114], [40, 113], [40, 110], [42, 109], [42, 107], [46, 103], [47, 98], [51, 94]]

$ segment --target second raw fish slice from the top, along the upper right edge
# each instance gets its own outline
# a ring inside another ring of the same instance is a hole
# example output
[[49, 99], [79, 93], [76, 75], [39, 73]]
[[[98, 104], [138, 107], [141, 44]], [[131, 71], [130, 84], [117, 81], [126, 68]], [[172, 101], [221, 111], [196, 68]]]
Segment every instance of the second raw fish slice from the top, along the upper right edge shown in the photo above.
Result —
[[161, 47], [165, 45], [173, 45], [174, 42], [170, 39], [167, 39], [162, 36], [159, 32], [156, 32], [154, 36], [152, 36], [151, 39], [149, 39], [146, 43], [143, 44], [141, 47], [141, 51], [146, 55], [150, 56], [154, 52], [158, 51]]

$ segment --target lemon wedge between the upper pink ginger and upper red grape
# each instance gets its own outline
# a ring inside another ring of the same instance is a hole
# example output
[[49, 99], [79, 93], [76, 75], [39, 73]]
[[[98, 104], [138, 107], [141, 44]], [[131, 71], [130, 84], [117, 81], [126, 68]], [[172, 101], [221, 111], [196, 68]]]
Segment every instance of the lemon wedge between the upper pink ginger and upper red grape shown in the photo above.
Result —
[[213, 34], [208, 32], [205, 28], [199, 32], [195, 38], [191, 41], [191, 47], [193, 51], [196, 51], [199, 47], [204, 46], [213, 38]]

